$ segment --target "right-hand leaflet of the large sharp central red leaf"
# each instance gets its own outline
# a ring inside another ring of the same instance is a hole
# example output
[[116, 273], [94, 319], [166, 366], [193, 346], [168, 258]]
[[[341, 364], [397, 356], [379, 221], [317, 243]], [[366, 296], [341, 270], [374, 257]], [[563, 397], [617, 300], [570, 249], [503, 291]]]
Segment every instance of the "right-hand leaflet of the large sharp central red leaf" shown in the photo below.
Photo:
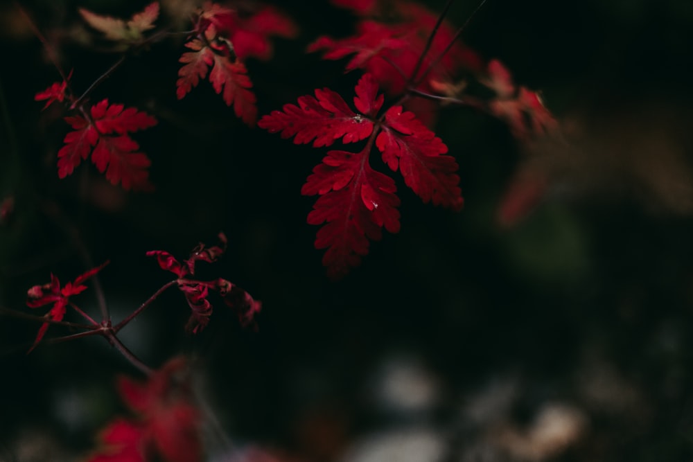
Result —
[[399, 168], [405, 184], [424, 203], [462, 208], [455, 158], [444, 155], [448, 147], [413, 112], [402, 112], [401, 106], [388, 109], [376, 145], [383, 152], [383, 161], [392, 170]]

